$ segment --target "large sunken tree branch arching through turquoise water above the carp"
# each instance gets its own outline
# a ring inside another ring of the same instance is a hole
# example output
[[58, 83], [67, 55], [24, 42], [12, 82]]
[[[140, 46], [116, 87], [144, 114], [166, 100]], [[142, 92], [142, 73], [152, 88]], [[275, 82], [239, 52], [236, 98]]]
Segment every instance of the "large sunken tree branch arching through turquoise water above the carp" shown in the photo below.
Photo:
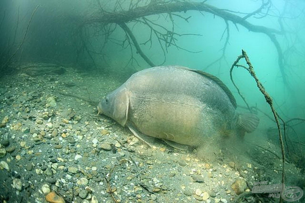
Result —
[[[174, 33], [172, 30], [167, 30], [166, 34], [162, 34], [165, 39], [163, 39], [160, 35], [160, 33], [157, 33], [157, 30], [152, 28], [152, 23], [145, 18], [146, 16], [150, 15], [157, 15], [157, 14], [168, 14], [170, 19], [174, 12], [186, 12], [188, 10], [196, 10], [199, 12], [207, 12], [211, 13], [214, 16], [218, 16], [224, 19], [226, 23], [226, 30], [227, 30], [227, 39], [226, 43], [228, 41], [228, 21], [231, 21], [233, 24], [235, 24], [236, 28], [238, 29], [237, 25], [241, 25], [242, 27], [245, 27], [251, 32], [257, 32], [257, 33], [263, 33], [267, 35], [272, 43], [274, 44], [277, 52], [278, 52], [278, 65], [282, 74], [283, 82], [287, 85], [287, 77], [285, 74], [284, 69], [284, 62], [283, 62], [283, 52], [282, 48], [279, 45], [278, 40], [276, 39], [277, 34], [283, 34], [282, 30], [276, 30], [269, 27], [264, 27], [260, 25], [255, 25], [252, 23], [249, 23], [247, 19], [250, 16], [259, 15], [258, 18], [262, 18], [267, 15], [267, 12], [271, 6], [270, 0], [263, 0], [260, 8], [255, 10], [252, 13], [240, 13], [240, 12], [234, 12], [226, 9], [220, 9], [215, 6], [212, 6], [210, 4], [203, 2], [187, 2], [187, 1], [151, 1], [147, 5], [140, 6], [139, 1], [129, 6], [129, 9], [123, 9], [120, 5], [119, 9], [115, 9], [113, 12], [107, 12], [103, 9], [100, 10], [96, 15], [92, 15], [90, 17], [84, 18], [83, 25], [86, 24], [92, 24], [92, 23], [101, 23], [102, 25], [109, 24], [109, 23], [116, 23], [122, 27], [122, 29], [127, 33], [127, 35], [130, 37], [131, 41], [133, 42], [134, 46], [136, 47], [137, 52], [141, 55], [141, 57], [150, 65], [152, 66], [153, 63], [148, 59], [148, 57], [144, 54], [144, 52], [141, 50], [140, 46], [138, 45], [138, 42], [135, 38], [135, 36], [132, 34], [132, 31], [127, 27], [126, 23], [128, 22], [142, 22], [148, 26], [150, 26], [151, 33], [154, 33], [159, 40], [159, 43], [167, 43], [169, 45], [174, 45], [175, 41], [173, 41], [175, 38], [173, 37]], [[263, 9], [267, 9], [267, 12], [262, 12]], [[118, 11], [119, 10], [119, 11]], [[243, 16], [243, 17], [242, 17]], [[188, 18], [185, 19], [186, 21]], [[159, 34], [159, 36], [158, 36]], [[172, 36], [168, 37], [168, 34], [172, 34]], [[150, 39], [151, 40], [151, 39]], [[165, 46], [166, 48], [167, 46]], [[164, 48], [162, 47], [163, 52]], [[225, 49], [225, 47], [224, 47]], [[223, 50], [224, 52], [224, 50]]]

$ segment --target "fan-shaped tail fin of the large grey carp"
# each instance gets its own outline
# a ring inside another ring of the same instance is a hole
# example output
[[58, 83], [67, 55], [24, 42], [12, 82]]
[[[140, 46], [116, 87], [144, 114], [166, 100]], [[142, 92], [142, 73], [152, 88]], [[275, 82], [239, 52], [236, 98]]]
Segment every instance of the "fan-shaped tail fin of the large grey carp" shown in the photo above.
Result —
[[239, 126], [246, 130], [247, 133], [253, 132], [257, 128], [259, 122], [260, 119], [253, 113], [240, 114], [238, 119]]

